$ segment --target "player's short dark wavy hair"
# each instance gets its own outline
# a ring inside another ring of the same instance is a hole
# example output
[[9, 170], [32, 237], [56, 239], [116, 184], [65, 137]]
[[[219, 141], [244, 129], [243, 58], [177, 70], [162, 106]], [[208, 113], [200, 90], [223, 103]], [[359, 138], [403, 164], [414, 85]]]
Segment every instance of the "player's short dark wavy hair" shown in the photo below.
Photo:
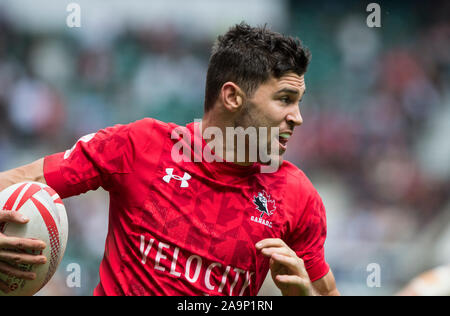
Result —
[[251, 97], [271, 77], [280, 78], [287, 72], [303, 75], [310, 60], [309, 49], [298, 38], [273, 32], [266, 26], [237, 24], [213, 45], [206, 76], [205, 112], [214, 106], [228, 81]]

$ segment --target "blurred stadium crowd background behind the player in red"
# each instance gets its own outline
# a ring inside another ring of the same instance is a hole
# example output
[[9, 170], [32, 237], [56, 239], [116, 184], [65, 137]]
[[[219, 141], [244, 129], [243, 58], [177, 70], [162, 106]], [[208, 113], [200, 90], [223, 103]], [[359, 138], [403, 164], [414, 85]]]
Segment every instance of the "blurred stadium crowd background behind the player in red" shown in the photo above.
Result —
[[[72, 2], [80, 28], [66, 25]], [[304, 124], [287, 159], [324, 200], [338, 288], [392, 295], [450, 263], [450, 7], [377, 1], [381, 27], [369, 28], [370, 2], [1, 0], [0, 170], [110, 125], [201, 118], [214, 39], [241, 21], [267, 23], [312, 51]], [[108, 196], [99, 190], [65, 205], [67, 252], [40, 294], [91, 295]], [[80, 287], [67, 286], [71, 263]], [[260, 294], [279, 292], [268, 280]]]

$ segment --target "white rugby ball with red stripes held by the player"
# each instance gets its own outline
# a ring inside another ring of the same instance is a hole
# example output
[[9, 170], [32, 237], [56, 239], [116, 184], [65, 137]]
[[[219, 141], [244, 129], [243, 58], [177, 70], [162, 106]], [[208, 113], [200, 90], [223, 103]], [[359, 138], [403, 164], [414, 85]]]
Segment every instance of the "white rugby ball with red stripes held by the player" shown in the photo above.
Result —
[[0, 223], [0, 232], [13, 237], [35, 238], [45, 242], [42, 255], [47, 262], [40, 265], [21, 264], [23, 271], [36, 273], [36, 279], [23, 280], [0, 272], [0, 279], [10, 292], [0, 295], [30, 296], [52, 278], [64, 256], [68, 236], [68, 221], [64, 204], [49, 186], [38, 182], [23, 182], [0, 192], [0, 210], [20, 212], [30, 219], [26, 224]]

